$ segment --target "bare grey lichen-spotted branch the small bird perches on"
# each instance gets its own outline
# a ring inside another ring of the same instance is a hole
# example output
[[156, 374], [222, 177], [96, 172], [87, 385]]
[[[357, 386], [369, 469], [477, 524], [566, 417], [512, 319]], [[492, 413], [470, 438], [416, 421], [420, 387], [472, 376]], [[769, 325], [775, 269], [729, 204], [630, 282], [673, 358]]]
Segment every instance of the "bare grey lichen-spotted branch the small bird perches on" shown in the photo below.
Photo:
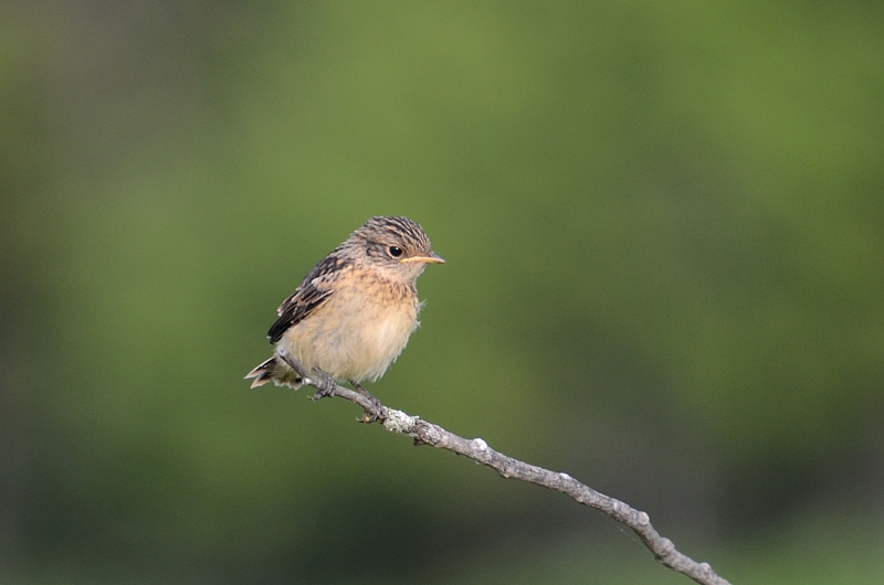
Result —
[[439, 425], [428, 423], [402, 411], [388, 408], [368, 393], [362, 394], [352, 391], [339, 385], [330, 376], [309, 372], [284, 348], [278, 348], [277, 354], [301, 375], [304, 384], [317, 389], [314, 398], [338, 396], [350, 401], [361, 406], [365, 411], [362, 415], [364, 422], [377, 422], [387, 430], [408, 435], [414, 439], [414, 445], [430, 445], [440, 449], [448, 449], [491, 467], [505, 478], [536, 483], [570, 496], [578, 502], [589, 506], [632, 529], [653, 553], [654, 559], [673, 571], [677, 571], [704, 585], [729, 585], [726, 579], [713, 571], [708, 563], [697, 563], [675, 550], [675, 545], [671, 540], [661, 536], [654, 530], [654, 526], [651, 525], [651, 519], [645, 512], [635, 510], [620, 500], [600, 493], [577, 481], [568, 474], [549, 471], [498, 453], [488, 447], [487, 443], [481, 438], [465, 439], [454, 433], [449, 433]]

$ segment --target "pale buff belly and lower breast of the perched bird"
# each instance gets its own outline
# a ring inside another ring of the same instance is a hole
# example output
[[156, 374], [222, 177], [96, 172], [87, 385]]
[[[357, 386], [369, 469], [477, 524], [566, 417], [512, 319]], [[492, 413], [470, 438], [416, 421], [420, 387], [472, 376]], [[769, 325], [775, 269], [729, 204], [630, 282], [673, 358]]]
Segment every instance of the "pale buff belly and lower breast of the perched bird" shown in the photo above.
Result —
[[402, 352], [418, 326], [419, 304], [365, 304], [357, 295], [338, 295], [281, 340], [308, 368], [335, 377], [375, 381]]

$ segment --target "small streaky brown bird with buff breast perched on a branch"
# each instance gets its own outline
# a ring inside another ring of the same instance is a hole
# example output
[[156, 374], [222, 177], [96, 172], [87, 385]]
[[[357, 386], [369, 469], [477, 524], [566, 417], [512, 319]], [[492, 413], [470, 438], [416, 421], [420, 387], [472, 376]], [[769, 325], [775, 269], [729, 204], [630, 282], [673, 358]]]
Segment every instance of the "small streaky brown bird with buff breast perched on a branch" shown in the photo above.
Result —
[[[444, 264], [408, 217], [371, 217], [304, 277], [276, 310], [270, 342], [308, 370], [349, 381], [360, 392], [399, 357], [417, 329], [418, 277]], [[302, 380], [276, 353], [245, 376], [297, 390]]]

